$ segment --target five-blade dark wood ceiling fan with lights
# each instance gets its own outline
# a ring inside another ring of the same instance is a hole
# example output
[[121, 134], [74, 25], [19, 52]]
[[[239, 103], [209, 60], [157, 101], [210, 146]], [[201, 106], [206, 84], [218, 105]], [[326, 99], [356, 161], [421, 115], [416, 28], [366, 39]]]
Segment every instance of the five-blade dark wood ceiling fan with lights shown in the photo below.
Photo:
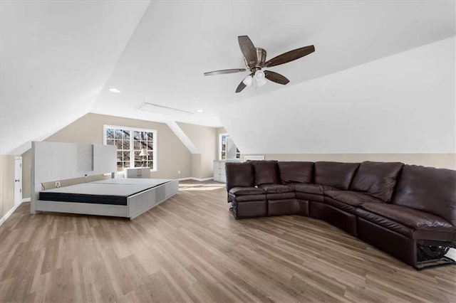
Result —
[[309, 53], [314, 53], [315, 51], [315, 46], [304, 46], [304, 48], [290, 50], [289, 52], [283, 53], [266, 61], [266, 50], [264, 50], [264, 48], [256, 48], [248, 36], [238, 36], [237, 41], [239, 41], [239, 47], [241, 48], [242, 55], [244, 55], [246, 68], [214, 70], [213, 72], [204, 73], [204, 75], [222, 75], [244, 72], [246, 70], [250, 71], [250, 74], [247, 75], [241, 83], [239, 83], [236, 88], [236, 92], [241, 92], [247, 86], [263, 86], [266, 84], [266, 79], [275, 83], [286, 85], [286, 83], [290, 82], [290, 80], [286, 77], [279, 73], [274, 73], [271, 70], [263, 71], [263, 69], [299, 59], [305, 55], [309, 55]]

